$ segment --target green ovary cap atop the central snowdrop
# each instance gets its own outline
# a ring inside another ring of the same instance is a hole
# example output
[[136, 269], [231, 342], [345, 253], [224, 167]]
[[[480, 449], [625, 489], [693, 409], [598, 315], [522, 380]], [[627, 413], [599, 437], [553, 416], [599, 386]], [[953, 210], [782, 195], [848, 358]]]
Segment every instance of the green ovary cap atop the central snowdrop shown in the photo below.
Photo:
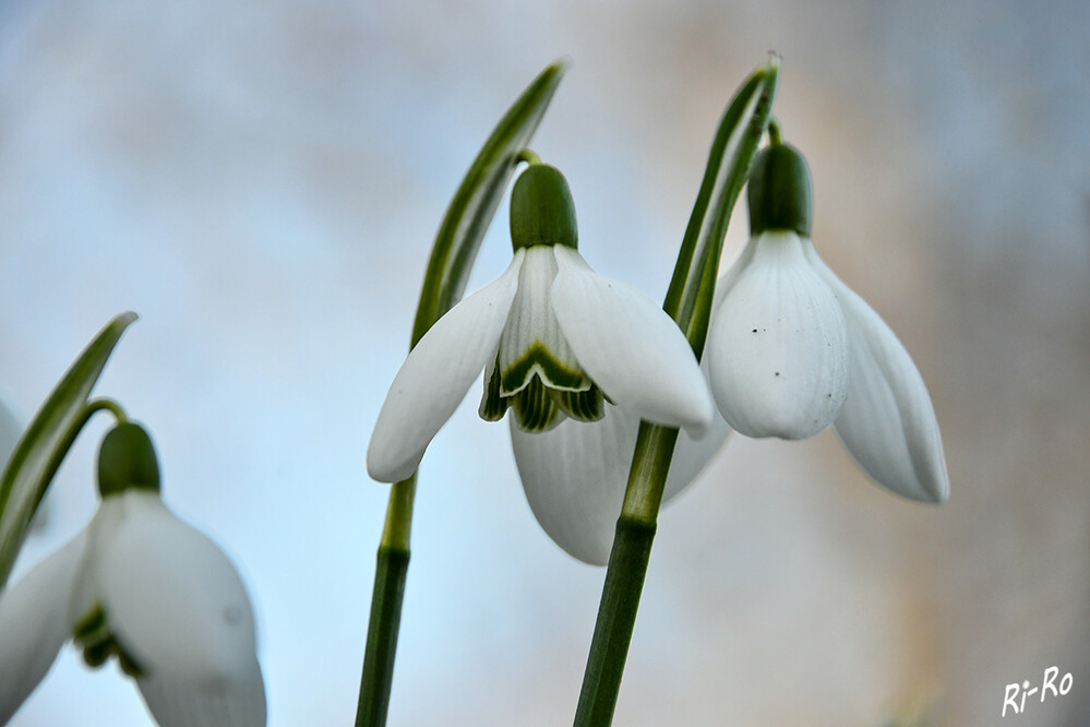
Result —
[[556, 167], [532, 164], [511, 191], [511, 247], [564, 245], [577, 248], [575, 202]]

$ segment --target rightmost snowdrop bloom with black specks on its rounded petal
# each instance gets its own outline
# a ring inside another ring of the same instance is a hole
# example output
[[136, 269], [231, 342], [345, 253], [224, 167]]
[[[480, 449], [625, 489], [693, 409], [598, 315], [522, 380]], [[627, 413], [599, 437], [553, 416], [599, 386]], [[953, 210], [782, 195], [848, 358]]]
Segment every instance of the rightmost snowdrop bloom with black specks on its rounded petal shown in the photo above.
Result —
[[949, 493], [938, 422], [911, 357], [810, 239], [805, 159], [774, 143], [748, 182], [751, 239], [717, 290], [706, 357], [727, 421], [748, 437], [805, 439], [829, 425], [881, 485]]

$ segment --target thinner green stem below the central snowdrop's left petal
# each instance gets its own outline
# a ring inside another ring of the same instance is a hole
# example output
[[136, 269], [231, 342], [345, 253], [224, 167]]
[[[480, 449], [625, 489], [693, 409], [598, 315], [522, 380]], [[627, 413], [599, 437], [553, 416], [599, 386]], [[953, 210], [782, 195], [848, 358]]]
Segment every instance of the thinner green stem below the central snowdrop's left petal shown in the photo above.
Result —
[[386, 524], [375, 563], [356, 727], [381, 727], [386, 724], [405, 580], [409, 572], [409, 533], [416, 489], [417, 476], [414, 474], [394, 484], [390, 493]]

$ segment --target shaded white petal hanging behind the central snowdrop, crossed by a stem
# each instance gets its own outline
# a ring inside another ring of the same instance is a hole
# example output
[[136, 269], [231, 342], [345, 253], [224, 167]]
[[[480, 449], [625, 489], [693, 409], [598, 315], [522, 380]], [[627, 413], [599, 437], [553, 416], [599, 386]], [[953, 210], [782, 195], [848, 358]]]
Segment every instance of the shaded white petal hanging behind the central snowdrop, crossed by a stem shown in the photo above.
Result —
[[[719, 450], [729, 430], [720, 417], [715, 420], [700, 440], [680, 432], [666, 500], [692, 482]], [[534, 516], [556, 545], [586, 563], [609, 560], [638, 429], [639, 417], [609, 405], [600, 421], [565, 419], [541, 433], [511, 426], [515, 463]]]

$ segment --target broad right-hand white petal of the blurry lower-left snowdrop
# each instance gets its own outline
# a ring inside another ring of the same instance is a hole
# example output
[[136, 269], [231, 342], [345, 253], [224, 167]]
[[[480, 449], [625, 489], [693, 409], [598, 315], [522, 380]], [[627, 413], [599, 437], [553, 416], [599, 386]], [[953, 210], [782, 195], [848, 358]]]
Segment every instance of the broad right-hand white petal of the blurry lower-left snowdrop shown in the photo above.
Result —
[[265, 724], [253, 611], [230, 561], [154, 492], [129, 490], [101, 541], [106, 623], [145, 671], [144, 701], [163, 727]]

